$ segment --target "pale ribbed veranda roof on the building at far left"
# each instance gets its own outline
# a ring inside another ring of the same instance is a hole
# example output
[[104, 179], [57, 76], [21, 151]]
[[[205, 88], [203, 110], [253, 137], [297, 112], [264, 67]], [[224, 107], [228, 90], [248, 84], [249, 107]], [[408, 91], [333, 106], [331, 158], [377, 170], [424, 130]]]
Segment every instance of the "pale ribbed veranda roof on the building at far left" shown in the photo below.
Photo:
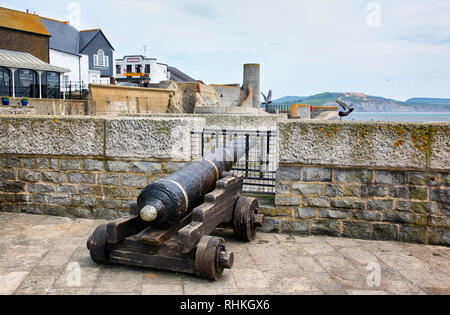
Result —
[[0, 49], [0, 67], [31, 69], [36, 71], [70, 72], [69, 69], [52, 66], [27, 52]]

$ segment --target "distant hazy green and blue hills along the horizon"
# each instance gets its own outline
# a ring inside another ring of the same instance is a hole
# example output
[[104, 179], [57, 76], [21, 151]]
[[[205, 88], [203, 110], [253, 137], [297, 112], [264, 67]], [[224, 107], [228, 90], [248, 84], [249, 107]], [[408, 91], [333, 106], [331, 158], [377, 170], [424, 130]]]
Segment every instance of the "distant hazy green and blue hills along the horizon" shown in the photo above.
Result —
[[274, 105], [304, 103], [312, 106], [337, 106], [336, 100], [355, 104], [356, 112], [450, 112], [450, 99], [412, 98], [406, 102], [363, 93], [321, 93], [312, 96], [288, 96], [273, 101]]

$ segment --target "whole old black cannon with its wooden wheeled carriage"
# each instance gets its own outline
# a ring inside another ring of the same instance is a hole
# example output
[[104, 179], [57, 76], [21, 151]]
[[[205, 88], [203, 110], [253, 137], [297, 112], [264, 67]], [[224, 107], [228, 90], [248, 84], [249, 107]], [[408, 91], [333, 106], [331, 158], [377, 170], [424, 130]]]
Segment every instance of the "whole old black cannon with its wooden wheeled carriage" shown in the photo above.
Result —
[[230, 172], [249, 145], [231, 141], [149, 184], [128, 217], [95, 229], [87, 241], [92, 260], [219, 279], [232, 268], [234, 254], [223, 238], [209, 234], [224, 225], [236, 239], [251, 242], [264, 225], [258, 201], [241, 196], [244, 176]]

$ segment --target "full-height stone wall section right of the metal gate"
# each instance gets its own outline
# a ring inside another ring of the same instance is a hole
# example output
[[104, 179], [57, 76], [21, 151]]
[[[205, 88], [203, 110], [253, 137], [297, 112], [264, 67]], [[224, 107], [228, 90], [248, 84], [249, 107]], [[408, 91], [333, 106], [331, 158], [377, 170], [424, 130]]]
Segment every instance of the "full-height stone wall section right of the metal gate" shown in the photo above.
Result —
[[450, 125], [279, 124], [268, 231], [450, 245]]

